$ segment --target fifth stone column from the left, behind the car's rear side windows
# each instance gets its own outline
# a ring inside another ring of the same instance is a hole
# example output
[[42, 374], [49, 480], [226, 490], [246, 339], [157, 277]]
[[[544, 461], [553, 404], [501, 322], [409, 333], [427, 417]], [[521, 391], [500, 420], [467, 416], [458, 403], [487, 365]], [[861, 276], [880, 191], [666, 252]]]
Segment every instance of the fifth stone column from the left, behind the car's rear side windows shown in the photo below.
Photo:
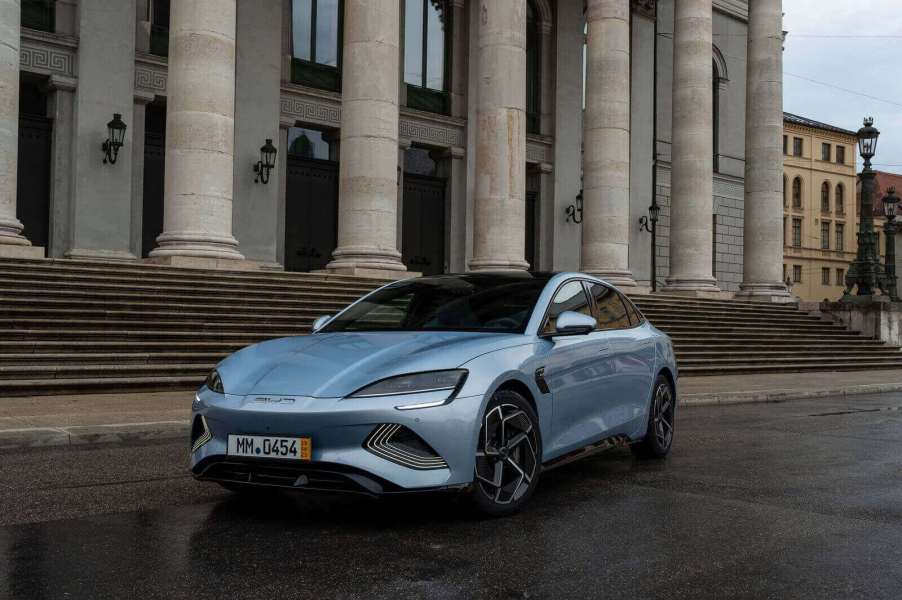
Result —
[[582, 270], [634, 286], [629, 270], [630, 2], [589, 0], [586, 19]]

